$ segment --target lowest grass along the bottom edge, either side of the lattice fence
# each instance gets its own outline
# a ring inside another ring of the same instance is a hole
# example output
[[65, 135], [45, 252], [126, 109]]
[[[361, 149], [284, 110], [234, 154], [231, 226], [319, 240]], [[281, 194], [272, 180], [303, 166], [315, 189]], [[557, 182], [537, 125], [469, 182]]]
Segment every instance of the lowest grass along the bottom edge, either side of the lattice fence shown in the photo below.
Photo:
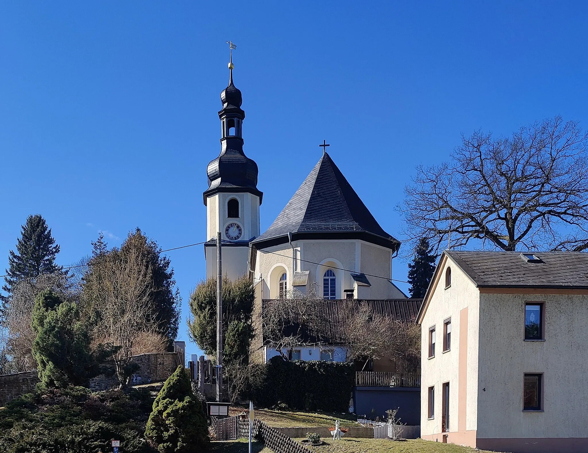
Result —
[[[324, 439], [323, 439], [324, 441]], [[253, 453], [273, 453], [263, 447], [262, 442], [253, 442]], [[421, 439], [393, 442], [387, 439], [345, 439], [326, 445], [310, 447], [316, 453], [484, 453], [469, 447], [423, 441]], [[247, 453], [248, 443], [245, 439], [228, 442], [211, 442], [211, 453]], [[490, 452], [487, 452], [490, 453]]]

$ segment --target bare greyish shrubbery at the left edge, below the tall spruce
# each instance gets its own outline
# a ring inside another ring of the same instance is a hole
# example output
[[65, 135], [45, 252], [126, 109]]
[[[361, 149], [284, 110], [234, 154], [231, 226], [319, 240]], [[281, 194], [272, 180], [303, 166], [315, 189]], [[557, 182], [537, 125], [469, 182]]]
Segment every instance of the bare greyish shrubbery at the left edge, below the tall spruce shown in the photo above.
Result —
[[1, 374], [35, 370], [31, 348], [36, 335], [31, 328], [31, 318], [35, 299], [45, 290], [54, 291], [66, 301], [78, 300], [75, 288], [63, 273], [41, 274], [15, 283], [7, 298], [0, 328], [0, 350], [5, 357]]

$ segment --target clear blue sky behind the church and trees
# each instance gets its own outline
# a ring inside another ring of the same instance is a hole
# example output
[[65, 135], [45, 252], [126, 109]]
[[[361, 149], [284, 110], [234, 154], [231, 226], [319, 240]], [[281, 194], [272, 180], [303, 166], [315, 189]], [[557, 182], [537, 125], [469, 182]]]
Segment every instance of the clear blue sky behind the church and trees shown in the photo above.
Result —
[[[460, 134], [556, 114], [588, 127], [586, 2], [3, 2], [0, 269], [41, 213], [60, 264], [140, 227], [163, 249], [205, 240], [226, 40], [265, 230], [329, 153], [394, 236], [416, 165]], [[402, 237], [400, 237], [402, 239]], [[202, 246], [168, 253], [183, 297]], [[406, 264], [395, 260], [395, 278]], [[399, 284], [406, 290], [406, 285]], [[196, 345], [188, 343], [188, 353]]]

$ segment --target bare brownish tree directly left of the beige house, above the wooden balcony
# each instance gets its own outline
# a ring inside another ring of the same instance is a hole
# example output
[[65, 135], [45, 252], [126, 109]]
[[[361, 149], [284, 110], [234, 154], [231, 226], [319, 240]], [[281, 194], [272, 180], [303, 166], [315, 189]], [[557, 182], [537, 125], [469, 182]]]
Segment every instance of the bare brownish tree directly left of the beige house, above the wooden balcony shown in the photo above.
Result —
[[419, 326], [376, 313], [367, 303], [360, 302], [358, 307], [349, 301], [340, 311], [348, 361], [389, 358], [409, 367], [419, 361]]

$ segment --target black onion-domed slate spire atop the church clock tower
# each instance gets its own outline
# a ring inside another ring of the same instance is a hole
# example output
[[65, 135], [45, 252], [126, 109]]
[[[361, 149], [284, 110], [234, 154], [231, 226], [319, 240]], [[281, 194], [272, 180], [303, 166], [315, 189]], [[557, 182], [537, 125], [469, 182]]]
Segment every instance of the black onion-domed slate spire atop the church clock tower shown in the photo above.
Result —
[[229, 86], [220, 93], [222, 109], [219, 112], [222, 124], [220, 155], [208, 164], [208, 190], [206, 197], [218, 192], [249, 192], [262, 202], [263, 192], [257, 188], [258, 166], [253, 159], [243, 153], [243, 120], [245, 112], [241, 109], [243, 98], [233, 83], [233, 70], [230, 69]]

